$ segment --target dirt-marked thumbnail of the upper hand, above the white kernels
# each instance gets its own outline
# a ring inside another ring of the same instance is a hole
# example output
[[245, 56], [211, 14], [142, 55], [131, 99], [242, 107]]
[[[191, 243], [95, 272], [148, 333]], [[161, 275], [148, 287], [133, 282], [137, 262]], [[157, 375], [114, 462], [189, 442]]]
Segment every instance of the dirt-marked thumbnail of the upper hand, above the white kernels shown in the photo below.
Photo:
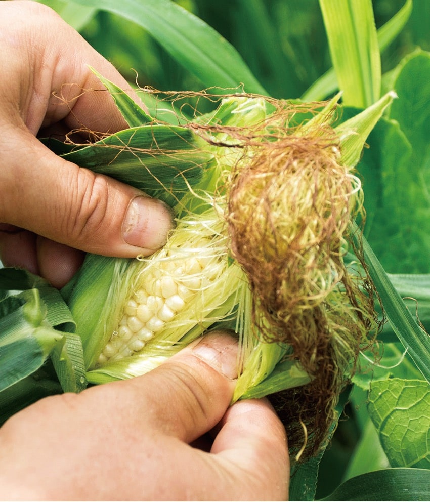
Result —
[[127, 244], [155, 251], [166, 243], [172, 227], [173, 215], [164, 202], [138, 196], [128, 205], [122, 236]]

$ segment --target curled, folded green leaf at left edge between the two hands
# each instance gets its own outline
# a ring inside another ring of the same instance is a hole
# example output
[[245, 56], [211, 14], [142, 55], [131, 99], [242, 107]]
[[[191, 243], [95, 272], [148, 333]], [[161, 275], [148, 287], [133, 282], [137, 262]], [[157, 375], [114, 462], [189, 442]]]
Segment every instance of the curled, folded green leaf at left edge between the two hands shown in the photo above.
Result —
[[75, 323], [60, 292], [41, 277], [11, 268], [0, 270], [0, 284], [8, 291], [0, 302], [0, 390], [34, 373], [48, 357], [65, 392], [82, 390], [82, 343], [64, 332]]

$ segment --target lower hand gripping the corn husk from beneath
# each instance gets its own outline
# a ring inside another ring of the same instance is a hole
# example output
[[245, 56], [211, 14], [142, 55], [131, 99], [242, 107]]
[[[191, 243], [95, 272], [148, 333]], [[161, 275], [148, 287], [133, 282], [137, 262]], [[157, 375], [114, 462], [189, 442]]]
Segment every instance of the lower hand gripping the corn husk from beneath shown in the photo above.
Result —
[[[0, 498], [287, 499], [276, 413], [266, 400], [228, 408], [236, 358], [234, 339], [213, 332], [143, 377], [17, 413], [0, 429]], [[210, 452], [190, 446], [214, 427]]]

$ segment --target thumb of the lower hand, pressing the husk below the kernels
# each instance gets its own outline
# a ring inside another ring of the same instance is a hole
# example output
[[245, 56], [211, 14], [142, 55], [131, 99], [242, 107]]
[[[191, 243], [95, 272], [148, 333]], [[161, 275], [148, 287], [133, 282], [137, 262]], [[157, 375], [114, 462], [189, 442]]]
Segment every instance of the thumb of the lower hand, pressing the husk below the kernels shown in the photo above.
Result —
[[[150, 371], [145, 385], [149, 426], [191, 443], [220, 420], [230, 405], [237, 379], [238, 343], [226, 331], [212, 331]], [[134, 403], [139, 399], [134, 399]]]

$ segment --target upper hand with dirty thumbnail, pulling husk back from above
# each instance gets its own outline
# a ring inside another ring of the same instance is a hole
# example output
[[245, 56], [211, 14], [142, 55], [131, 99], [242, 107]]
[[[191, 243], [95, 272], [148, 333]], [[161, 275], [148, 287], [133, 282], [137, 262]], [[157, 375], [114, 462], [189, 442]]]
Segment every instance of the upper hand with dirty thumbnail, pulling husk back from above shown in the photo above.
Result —
[[[36, 136], [82, 127], [127, 127], [88, 65], [126, 81], [51, 9], [0, 2], [0, 259], [63, 286], [83, 252], [132, 258], [165, 243], [171, 227], [159, 201], [80, 169]], [[99, 92], [97, 91], [99, 90]]]

